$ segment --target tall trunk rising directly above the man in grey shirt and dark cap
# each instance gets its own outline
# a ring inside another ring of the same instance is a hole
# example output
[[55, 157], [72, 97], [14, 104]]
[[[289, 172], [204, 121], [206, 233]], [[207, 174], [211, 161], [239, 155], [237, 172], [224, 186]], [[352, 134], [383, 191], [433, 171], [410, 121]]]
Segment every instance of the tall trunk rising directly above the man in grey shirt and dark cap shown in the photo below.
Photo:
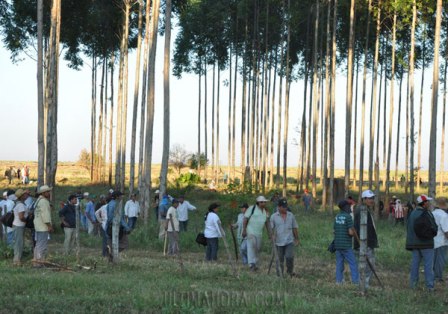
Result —
[[[288, 0], [288, 9], [290, 10], [290, 1]], [[287, 170], [288, 170], [288, 127], [289, 127], [289, 92], [291, 87], [291, 69], [289, 65], [289, 43], [291, 40], [291, 21], [288, 15], [288, 20], [286, 24], [286, 91], [285, 91], [285, 117], [284, 117], [284, 128], [283, 128], [283, 197], [286, 197], [287, 189]]]

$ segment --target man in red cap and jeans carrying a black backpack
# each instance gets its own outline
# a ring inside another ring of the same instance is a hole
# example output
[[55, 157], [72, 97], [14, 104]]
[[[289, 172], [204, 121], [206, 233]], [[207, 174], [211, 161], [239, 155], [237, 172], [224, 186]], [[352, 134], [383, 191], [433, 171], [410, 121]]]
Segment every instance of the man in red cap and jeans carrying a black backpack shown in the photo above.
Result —
[[422, 194], [417, 197], [417, 208], [408, 218], [406, 250], [412, 251], [411, 288], [418, 283], [420, 261], [423, 259], [425, 282], [428, 291], [434, 291], [434, 236], [437, 225], [430, 208], [432, 198]]

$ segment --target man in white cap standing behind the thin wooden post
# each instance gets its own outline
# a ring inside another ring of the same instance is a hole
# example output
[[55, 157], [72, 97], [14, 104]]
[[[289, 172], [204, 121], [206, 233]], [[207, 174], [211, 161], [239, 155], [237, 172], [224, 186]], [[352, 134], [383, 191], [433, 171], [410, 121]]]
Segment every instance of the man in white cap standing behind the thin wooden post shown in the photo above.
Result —
[[[360, 234], [361, 225], [361, 210], [367, 210], [367, 250], [366, 258], [369, 260], [369, 265], [365, 270], [365, 288], [369, 288], [370, 278], [372, 277], [372, 267], [375, 267], [375, 249], [378, 247], [378, 236], [376, 234], [375, 221], [373, 220], [373, 209], [375, 204], [375, 193], [371, 190], [365, 190], [361, 194], [361, 204], [355, 207], [354, 225], [357, 234]], [[364, 207], [364, 208], [363, 208]], [[354, 242], [355, 250], [359, 250], [360, 243]]]

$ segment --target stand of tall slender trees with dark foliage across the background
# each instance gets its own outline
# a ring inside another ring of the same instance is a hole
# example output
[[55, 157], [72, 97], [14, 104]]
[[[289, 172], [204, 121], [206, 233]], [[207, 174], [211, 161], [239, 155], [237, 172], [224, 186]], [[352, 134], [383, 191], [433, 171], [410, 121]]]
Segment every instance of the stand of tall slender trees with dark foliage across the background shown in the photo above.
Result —
[[190, 164], [203, 181], [224, 174], [243, 191], [283, 196], [309, 189], [333, 212], [338, 186], [346, 195], [368, 186], [385, 204], [399, 185], [409, 200], [445, 192], [447, 9], [442, 0], [7, 0], [0, 35], [13, 62], [36, 60], [39, 185], [56, 183], [63, 58], [91, 70], [91, 101], [79, 104], [91, 108], [91, 181], [140, 191], [146, 220], [151, 187], [163, 195], [170, 166], [180, 174], [184, 164], [170, 152], [184, 153], [170, 142], [170, 75], [186, 74], [197, 79], [197, 103], [185, 103], [186, 136], [197, 136]]

